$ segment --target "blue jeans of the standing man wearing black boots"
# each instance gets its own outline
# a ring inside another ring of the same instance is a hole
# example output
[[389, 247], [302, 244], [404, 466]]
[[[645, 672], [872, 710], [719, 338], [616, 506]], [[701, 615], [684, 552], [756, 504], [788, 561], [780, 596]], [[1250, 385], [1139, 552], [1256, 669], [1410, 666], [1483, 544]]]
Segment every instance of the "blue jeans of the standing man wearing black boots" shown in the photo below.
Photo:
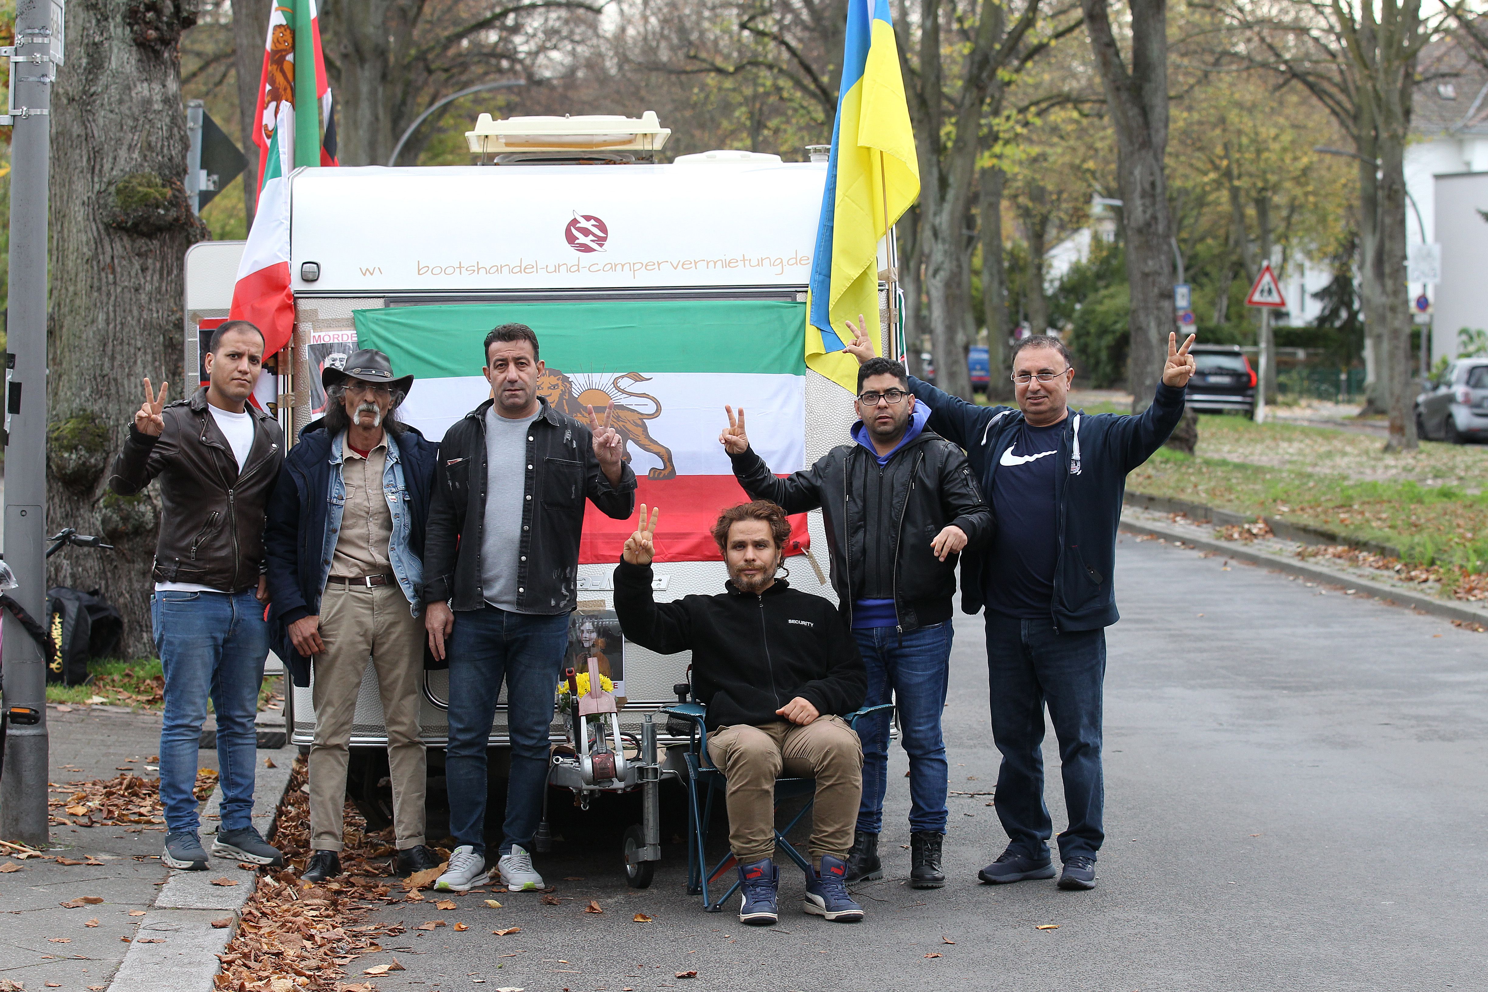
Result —
[[[951, 663], [951, 622], [911, 631], [900, 641], [894, 628], [853, 631], [868, 668], [865, 705], [893, 703], [899, 712], [900, 742], [909, 756], [909, 830], [945, 833], [945, 794], [949, 769], [940, 715]], [[863, 741], [863, 800], [857, 828], [884, 827], [884, 791], [888, 788], [888, 711], [857, 723]]]

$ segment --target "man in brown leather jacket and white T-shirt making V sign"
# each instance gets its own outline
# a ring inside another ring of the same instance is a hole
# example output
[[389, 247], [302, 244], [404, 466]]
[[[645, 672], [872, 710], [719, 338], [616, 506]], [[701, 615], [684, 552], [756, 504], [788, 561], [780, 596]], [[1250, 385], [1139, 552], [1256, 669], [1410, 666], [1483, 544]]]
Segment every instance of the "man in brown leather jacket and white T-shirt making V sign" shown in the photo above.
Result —
[[161, 532], [155, 547], [150, 620], [165, 669], [161, 802], [173, 869], [205, 870], [196, 836], [196, 742], [207, 698], [217, 712], [222, 825], [211, 852], [253, 864], [283, 864], [253, 827], [253, 766], [259, 684], [269, 651], [263, 619], [263, 509], [284, 431], [247, 405], [263, 364], [263, 335], [244, 320], [222, 324], [205, 357], [210, 384], [165, 403], [144, 381], [144, 403], [109, 488], [140, 492], [159, 477]]

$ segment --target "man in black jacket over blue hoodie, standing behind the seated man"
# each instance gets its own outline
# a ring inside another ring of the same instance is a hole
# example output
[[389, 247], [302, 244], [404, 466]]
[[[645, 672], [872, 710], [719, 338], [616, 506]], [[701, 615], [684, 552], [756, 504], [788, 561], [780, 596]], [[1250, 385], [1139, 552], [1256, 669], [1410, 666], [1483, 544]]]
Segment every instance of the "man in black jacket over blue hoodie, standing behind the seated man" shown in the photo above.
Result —
[[[951, 659], [951, 598], [957, 553], [987, 541], [991, 510], [966, 455], [926, 430], [930, 410], [909, 394], [905, 366], [873, 358], [857, 372], [853, 443], [814, 466], [777, 477], [748, 446], [744, 410], [725, 408], [719, 440], [754, 500], [786, 513], [821, 509], [832, 552], [832, 586], [868, 669], [868, 705], [893, 700], [909, 756], [909, 883], [940, 888], [948, 767], [940, 714]], [[888, 714], [859, 724], [863, 800], [850, 882], [882, 877], [878, 834], [888, 785]]]

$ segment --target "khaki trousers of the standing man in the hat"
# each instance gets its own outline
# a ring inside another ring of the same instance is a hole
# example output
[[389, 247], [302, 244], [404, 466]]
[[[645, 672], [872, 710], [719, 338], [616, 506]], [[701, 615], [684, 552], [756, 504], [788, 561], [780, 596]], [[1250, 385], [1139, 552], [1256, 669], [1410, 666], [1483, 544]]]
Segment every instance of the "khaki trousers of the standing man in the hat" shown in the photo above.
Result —
[[310, 747], [310, 846], [341, 851], [347, 802], [347, 759], [357, 692], [368, 656], [376, 671], [393, 779], [397, 849], [424, 843], [424, 742], [418, 736], [424, 677], [424, 623], [396, 586], [326, 583], [320, 598], [320, 640], [314, 657], [315, 742]]

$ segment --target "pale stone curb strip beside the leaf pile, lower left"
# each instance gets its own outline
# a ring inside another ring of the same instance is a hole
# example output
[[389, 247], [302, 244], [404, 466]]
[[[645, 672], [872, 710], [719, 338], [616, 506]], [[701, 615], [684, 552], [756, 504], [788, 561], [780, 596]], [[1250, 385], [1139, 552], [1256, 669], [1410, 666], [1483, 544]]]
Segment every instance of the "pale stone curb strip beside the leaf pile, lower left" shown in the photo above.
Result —
[[[274, 830], [280, 800], [289, 787], [296, 748], [260, 750], [260, 757], [274, 759], [275, 767], [254, 770], [253, 825], [265, 837]], [[202, 846], [210, 849], [217, 833], [217, 809], [222, 803], [219, 785], [202, 811]], [[231, 877], [234, 886], [213, 885], [214, 877]], [[213, 979], [222, 965], [217, 955], [238, 930], [238, 913], [253, 895], [257, 872], [240, 872], [237, 863], [214, 858], [205, 872], [171, 872], [155, 897], [155, 904], [140, 921], [135, 938], [124, 955], [124, 962], [109, 982], [109, 992], [211, 992]], [[213, 921], [231, 919], [231, 925], [213, 927]], [[161, 943], [141, 943], [141, 937], [158, 935]]]

